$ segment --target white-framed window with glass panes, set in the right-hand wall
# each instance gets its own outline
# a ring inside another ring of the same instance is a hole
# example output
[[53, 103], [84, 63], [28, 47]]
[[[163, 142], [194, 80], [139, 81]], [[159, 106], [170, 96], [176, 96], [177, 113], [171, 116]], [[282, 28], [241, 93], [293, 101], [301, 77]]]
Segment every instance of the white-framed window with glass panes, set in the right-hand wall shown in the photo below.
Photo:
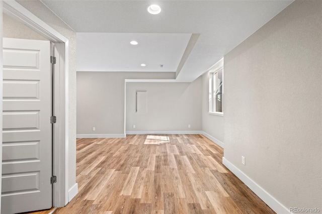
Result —
[[209, 114], [223, 116], [223, 59], [209, 70]]

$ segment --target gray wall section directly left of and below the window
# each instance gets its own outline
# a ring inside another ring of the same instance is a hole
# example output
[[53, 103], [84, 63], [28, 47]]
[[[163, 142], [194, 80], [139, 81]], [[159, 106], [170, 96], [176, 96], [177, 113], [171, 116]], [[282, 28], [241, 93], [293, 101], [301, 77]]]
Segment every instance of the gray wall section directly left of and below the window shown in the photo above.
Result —
[[[225, 71], [224, 71], [225, 72]], [[225, 75], [225, 74], [224, 74]], [[225, 76], [224, 76], [225, 84]], [[225, 95], [224, 95], [225, 96]], [[224, 139], [223, 119], [224, 116], [209, 114], [209, 72], [202, 75], [202, 131], [211, 137], [219, 140], [221, 143]], [[225, 103], [223, 103], [225, 106]], [[225, 115], [225, 113], [224, 113]]]

